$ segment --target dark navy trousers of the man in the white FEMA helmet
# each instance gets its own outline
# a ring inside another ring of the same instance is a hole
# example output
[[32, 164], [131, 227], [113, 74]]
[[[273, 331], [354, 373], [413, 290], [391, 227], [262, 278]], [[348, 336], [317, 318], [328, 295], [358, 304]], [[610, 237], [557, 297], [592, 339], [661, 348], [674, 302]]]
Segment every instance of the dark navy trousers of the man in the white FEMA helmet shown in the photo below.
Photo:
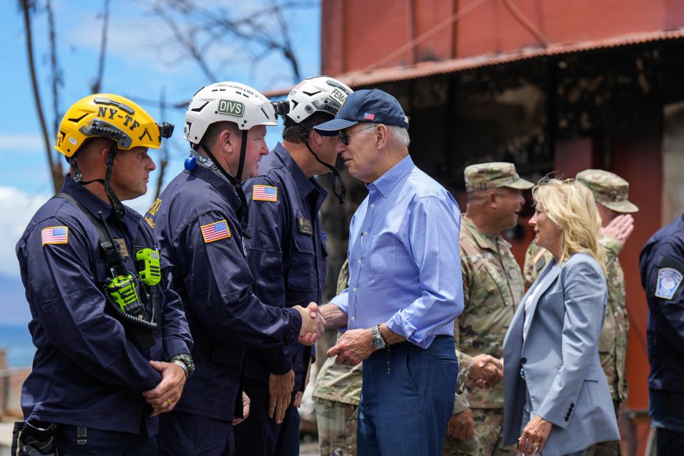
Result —
[[280, 425], [268, 416], [268, 383], [245, 379], [249, 418], [235, 429], [236, 456], [299, 455], [299, 411], [292, 404]]

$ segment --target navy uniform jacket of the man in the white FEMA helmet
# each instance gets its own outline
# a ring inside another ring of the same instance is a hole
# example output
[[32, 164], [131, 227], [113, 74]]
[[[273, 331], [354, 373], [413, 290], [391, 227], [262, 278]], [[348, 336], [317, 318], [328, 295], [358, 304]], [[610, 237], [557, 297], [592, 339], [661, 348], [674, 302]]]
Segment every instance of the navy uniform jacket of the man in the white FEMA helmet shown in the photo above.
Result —
[[[318, 210], [328, 192], [304, 175], [280, 143], [262, 159], [259, 173], [243, 185], [252, 234], [245, 246], [254, 292], [275, 307], [320, 304], [328, 254]], [[270, 195], [259, 196], [264, 186], [277, 189], [276, 201], [269, 201]], [[294, 368], [294, 390], [303, 391], [311, 353], [301, 344], [286, 351], [251, 350], [246, 376], [268, 381], [270, 373], [281, 375]]]

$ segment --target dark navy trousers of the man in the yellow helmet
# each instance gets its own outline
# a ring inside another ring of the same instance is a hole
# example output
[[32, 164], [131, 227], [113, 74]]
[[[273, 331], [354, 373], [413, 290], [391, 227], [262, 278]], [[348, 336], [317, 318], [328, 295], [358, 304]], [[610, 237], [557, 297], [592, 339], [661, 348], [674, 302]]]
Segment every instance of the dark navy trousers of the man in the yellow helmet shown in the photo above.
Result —
[[[138, 456], [156, 455], [157, 440], [138, 434], [57, 425], [60, 456]], [[85, 435], [84, 435], [85, 434]], [[80, 442], [80, 443], [79, 443]]]

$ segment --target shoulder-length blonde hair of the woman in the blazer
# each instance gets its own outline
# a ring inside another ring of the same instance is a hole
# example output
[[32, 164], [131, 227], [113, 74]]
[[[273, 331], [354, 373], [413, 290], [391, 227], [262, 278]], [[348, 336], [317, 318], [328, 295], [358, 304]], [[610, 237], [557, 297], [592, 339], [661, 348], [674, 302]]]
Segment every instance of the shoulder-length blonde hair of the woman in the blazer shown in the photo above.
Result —
[[559, 264], [570, 255], [585, 252], [598, 262], [605, 273], [600, 238], [601, 219], [591, 190], [579, 181], [542, 179], [532, 189], [534, 204], [542, 203], [546, 215], [561, 230]]

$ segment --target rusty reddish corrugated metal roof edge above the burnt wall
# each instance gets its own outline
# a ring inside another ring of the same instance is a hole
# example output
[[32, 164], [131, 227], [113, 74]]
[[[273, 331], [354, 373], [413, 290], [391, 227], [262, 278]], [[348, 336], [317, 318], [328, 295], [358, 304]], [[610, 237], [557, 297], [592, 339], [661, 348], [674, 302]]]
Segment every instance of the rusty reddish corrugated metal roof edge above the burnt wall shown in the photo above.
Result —
[[[638, 45], [645, 42], [675, 40], [678, 38], [684, 38], [684, 27], [672, 30], [660, 30], [648, 33], [615, 36], [612, 38], [605, 38], [603, 40], [550, 45], [548, 47], [518, 49], [517, 51], [511, 51], [507, 53], [477, 55], [474, 57], [442, 60], [441, 62], [421, 62], [420, 64], [416, 64], [414, 66], [393, 66], [391, 68], [379, 68], [377, 70], [368, 72], [357, 71], [335, 77], [353, 88], [372, 86], [374, 84], [383, 84], [385, 82], [405, 81], [407, 79], [418, 79], [420, 77], [428, 77], [446, 73], [457, 73], [459, 71], [480, 68], [482, 66], [518, 62], [520, 60], [550, 55], [561, 55], [567, 53], [592, 51], [594, 49]], [[281, 97], [288, 94], [290, 90], [292, 90], [292, 87], [269, 90], [263, 93], [266, 95], [266, 97]]]

